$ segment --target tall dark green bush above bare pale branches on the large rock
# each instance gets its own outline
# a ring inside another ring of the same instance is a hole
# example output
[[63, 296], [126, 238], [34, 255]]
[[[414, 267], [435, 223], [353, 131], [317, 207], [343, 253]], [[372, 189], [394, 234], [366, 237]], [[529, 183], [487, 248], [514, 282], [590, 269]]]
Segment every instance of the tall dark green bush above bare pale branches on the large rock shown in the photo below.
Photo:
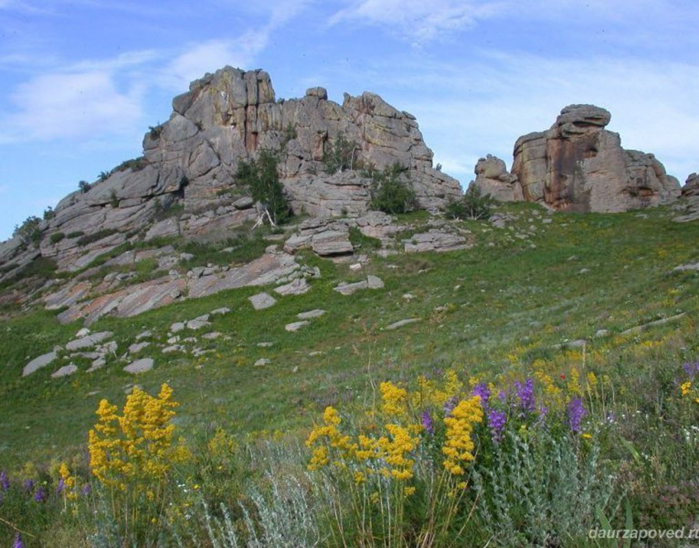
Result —
[[284, 221], [290, 215], [284, 187], [279, 180], [278, 162], [273, 152], [262, 150], [257, 159], [241, 161], [236, 173], [236, 180], [250, 187], [252, 199], [264, 204], [275, 223]]

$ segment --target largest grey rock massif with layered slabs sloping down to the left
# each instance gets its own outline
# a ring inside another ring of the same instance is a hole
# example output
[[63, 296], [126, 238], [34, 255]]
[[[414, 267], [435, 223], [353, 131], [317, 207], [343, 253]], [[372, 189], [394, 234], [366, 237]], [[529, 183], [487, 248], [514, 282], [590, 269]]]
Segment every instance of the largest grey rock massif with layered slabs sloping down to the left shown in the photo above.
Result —
[[[461, 193], [458, 181], [432, 167], [433, 154], [415, 117], [380, 96], [345, 94], [339, 105], [315, 87], [302, 99], [277, 100], [266, 72], [225, 67], [173, 99], [170, 120], [145, 134], [143, 158], [124, 162], [87, 192], [62, 199], [55, 216], [39, 225], [39, 252], [60, 268], [75, 270], [158, 219], [148, 229], [150, 238], [226, 233], [259, 215], [235, 175], [240, 161], [260, 150], [278, 153], [280, 178], [294, 211], [361, 215], [368, 210], [370, 180], [359, 170], [326, 173], [324, 154], [340, 140], [354, 143], [352, 166], [398, 163], [408, 168], [420, 208], [438, 208]], [[173, 206], [180, 214], [168, 217]], [[58, 233], [103, 238], [50, 239]], [[22, 266], [38, 252], [29, 254], [18, 238], [2, 243], [0, 266]]]

